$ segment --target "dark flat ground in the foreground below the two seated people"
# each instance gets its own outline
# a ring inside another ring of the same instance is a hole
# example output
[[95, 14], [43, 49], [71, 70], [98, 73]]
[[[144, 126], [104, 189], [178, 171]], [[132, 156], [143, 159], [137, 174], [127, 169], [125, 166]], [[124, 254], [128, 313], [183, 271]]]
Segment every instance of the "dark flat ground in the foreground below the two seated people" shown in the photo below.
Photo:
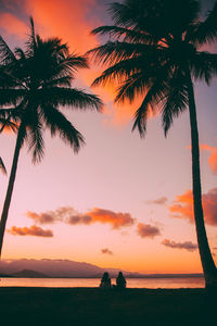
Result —
[[204, 289], [0, 288], [1, 325], [216, 325]]

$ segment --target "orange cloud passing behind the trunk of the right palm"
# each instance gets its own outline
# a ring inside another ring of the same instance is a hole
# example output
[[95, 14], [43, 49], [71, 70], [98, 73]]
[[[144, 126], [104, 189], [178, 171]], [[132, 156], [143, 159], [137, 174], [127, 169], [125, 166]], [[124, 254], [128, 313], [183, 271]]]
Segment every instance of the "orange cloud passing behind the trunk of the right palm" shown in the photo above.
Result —
[[[217, 188], [204, 193], [202, 202], [205, 222], [209, 225], [217, 225]], [[168, 209], [174, 217], [187, 218], [192, 223], [194, 221], [192, 191], [187, 190], [183, 195], [177, 196], [175, 203]]]

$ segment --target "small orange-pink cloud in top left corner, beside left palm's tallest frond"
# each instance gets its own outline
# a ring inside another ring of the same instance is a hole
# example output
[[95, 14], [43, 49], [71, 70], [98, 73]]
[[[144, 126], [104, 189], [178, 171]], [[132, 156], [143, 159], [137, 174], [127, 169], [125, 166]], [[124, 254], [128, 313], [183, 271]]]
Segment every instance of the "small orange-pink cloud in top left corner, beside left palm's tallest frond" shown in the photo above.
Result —
[[27, 26], [24, 22], [18, 20], [16, 16], [9, 12], [0, 13], [1, 28], [7, 32], [7, 34], [15, 35], [16, 37], [23, 39], [26, 37]]

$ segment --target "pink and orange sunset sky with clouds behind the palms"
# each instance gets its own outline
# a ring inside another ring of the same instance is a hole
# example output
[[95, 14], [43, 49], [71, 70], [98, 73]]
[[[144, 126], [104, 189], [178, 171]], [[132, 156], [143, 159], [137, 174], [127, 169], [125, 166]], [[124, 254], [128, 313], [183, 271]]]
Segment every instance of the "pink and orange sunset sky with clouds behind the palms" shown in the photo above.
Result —
[[[12, 49], [26, 40], [29, 16], [41, 37], [58, 36], [72, 52], [99, 43], [91, 29], [110, 23], [108, 0], [0, 0], [0, 35]], [[210, 10], [215, 0], [202, 2]], [[203, 12], [204, 13], [204, 12]], [[209, 48], [217, 52], [217, 46]], [[167, 139], [150, 117], [141, 139], [131, 133], [137, 105], [114, 105], [114, 89], [90, 85], [100, 67], [77, 73], [76, 87], [98, 93], [102, 113], [64, 111], [85, 136], [78, 154], [59, 138], [46, 138], [38, 165], [22, 149], [7, 224], [3, 259], [67, 259], [143, 273], [202, 272], [191, 195], [188, 112]], [[205, 221], [217, 258], [216, 80], [196, 84]], [[15, 135], [0, 135], [0, 156], [10, 173]], [[2, 206], [8, 176], [0, 174]]]

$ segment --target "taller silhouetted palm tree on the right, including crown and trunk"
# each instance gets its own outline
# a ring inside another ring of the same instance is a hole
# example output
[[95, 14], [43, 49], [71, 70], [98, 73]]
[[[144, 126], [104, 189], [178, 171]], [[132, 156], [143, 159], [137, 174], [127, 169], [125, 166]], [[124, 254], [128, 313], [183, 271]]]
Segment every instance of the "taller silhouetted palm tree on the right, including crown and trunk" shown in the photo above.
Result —
[[209, 84], [217, 74], [217, 54], [201, 47], [217, 38], [217, 3], [204, 21], [197, 0], [125, 0], [110, 5], [114, 25], [92, 30], [110, 40], [88, 53], [105, 64], [93, 86], [117, 82], [116, 102], [143, 100], [132, 129], [145, 135], [149, 110], [162, 113], [165, 136], [174, 117], [189, 109], [192, 148], [193, 204], [206, 287], [217, 286], [202, 208], [199, 133], [193, 82]]

